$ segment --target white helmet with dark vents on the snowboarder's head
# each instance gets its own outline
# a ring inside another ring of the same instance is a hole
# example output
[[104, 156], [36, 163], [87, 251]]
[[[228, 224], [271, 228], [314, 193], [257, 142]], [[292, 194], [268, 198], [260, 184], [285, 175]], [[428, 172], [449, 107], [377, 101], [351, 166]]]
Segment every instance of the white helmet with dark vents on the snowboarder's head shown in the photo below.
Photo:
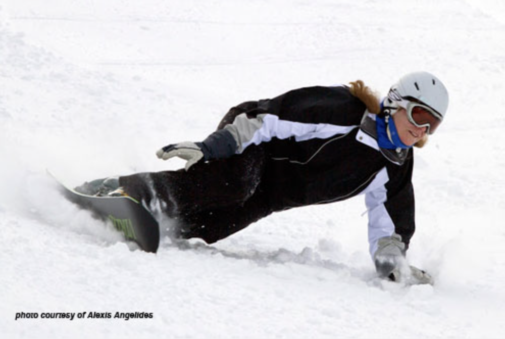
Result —
[[406, 102], [430, 107], [442, 120], [449, 105], [449, 94], [444, 84], [428, 72], [409, 73], [398, 80], [389, 90], [389, 102], [406, 107]]

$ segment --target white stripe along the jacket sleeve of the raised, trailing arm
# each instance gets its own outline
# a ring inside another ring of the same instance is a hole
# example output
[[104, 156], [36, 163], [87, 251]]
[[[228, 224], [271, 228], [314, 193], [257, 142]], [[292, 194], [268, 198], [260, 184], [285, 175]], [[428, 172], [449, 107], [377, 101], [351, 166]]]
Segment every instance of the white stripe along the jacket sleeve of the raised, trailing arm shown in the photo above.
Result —
[[242, 150], [250, 144], [260, 144], [270, 141], [273, 137], [287, 139], [294, 136], [296, 141], [305, 141], [314, 138], [326, 139], [337, 134], [347, 134], [357, 126], [339, 126], [331, 124], [308, 124], [281, 120], [279, 116], [272, 114], [261, 114], [261, 127], [256, 130], [253, 137], [242, 143]]

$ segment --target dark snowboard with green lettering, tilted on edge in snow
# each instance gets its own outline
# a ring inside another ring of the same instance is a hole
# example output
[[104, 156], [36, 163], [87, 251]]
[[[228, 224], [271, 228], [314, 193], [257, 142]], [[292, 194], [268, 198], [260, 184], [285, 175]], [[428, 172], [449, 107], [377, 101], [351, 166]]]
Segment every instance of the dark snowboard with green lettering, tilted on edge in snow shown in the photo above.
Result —
[[135, 241], [142, 250], [156, 253], [160, 228], [154, 216], [140, 202], [129, 196], [87, 196], [67, 187], [49, 171], [47, 173], [58, 183], [66, 199], [91, 211], [97, 219], [111, 222], [125, 239]]

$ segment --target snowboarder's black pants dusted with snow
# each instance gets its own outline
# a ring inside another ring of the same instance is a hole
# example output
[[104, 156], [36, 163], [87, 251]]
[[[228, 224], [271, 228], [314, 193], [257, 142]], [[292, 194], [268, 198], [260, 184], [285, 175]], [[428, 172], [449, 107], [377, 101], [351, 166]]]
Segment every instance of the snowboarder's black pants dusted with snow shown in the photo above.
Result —
[[[255, 107], [256, 102], [247, 102], [232, 108], [218, 129]], [[196, 163], [187, 172], [140, 173], [120, 177], [119, 184], [147, 206], [160, 203], [178, 221], [176, 236], [211, 244], [272, 213], [262, 181], [265, 166], [264, 148], [253, 145], [229, 159]]]

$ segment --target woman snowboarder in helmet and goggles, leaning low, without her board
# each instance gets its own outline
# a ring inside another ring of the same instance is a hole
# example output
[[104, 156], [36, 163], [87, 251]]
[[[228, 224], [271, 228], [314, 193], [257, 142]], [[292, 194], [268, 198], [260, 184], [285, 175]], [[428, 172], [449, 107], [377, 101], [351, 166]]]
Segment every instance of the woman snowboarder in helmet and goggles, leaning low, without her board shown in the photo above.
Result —
[[400, 78], [382, 100], [362, 81], [295, 89], [233, 107], [204, 141], [157, 152], [187, 160], [185, 169], [78, 189], [119, 187], [112, 194], [124, 192], [176, 220], [176, 237], [209, 244], [272, 212], [364, 194], [378, 275], [429, 283], [405, 260], [415, 229], [412, 147], [423, 146], [447, 107], [445, 86], [424, 71]]

